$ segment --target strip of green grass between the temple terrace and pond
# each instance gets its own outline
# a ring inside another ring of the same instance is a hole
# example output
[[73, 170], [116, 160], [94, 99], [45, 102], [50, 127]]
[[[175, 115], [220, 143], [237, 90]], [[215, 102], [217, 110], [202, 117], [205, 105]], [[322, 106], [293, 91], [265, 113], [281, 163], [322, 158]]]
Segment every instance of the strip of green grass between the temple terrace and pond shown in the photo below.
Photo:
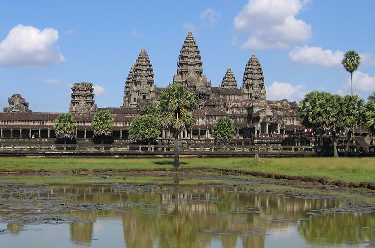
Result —
[[[171, 168], [171, 159], [1, 158], [4, 169]], [[182, 159], [181, 167], [220, 167], [285, 175], [331, 177], [350, 182], [375, 181], [375, 158], [250, 158]]]

